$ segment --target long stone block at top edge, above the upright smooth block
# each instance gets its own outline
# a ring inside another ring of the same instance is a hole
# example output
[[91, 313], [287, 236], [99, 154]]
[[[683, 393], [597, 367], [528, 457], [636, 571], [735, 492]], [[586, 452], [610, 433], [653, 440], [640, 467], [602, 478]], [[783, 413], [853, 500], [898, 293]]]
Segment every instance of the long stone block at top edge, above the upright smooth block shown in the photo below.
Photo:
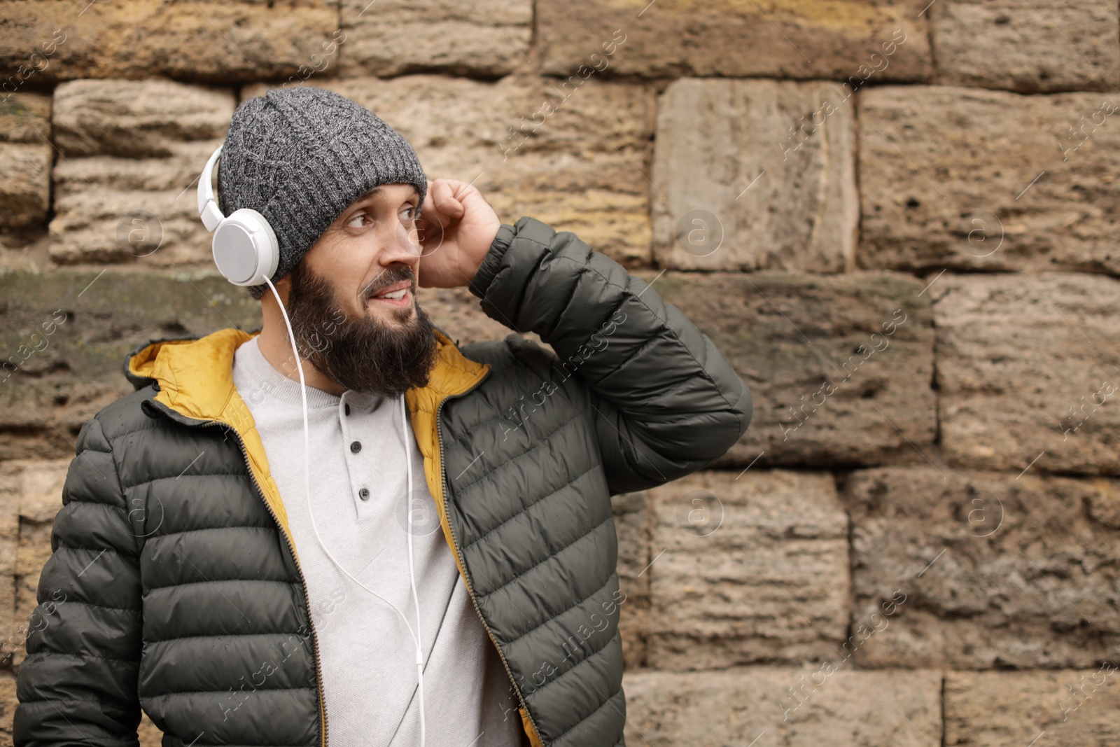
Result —
[[[926, 21], [918, 18], [924, 4], [538, 0], [536, 28], [548, 74], [601, 66], [603, 45], [614, 39], [618, 47], [607, 69], [616, 74], [843, 80], [862, 75], [861, 65], [879, 65], [881, 80], [924, 81], [932, 74]], [[881, 67], [870, 55], [896, 29], [905, 41]]]

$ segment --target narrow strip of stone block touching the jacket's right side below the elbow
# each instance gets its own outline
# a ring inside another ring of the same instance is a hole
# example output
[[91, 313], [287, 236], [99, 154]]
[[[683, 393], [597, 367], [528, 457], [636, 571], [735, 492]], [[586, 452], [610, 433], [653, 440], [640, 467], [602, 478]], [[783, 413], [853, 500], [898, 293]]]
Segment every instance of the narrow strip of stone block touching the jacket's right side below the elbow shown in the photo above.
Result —
[[645, 663], [650, 632], [650, 506], [646, 493], [610, 498], [618, 535], [618, 585], [626, 596], [619, 606], [623, 663], [627, 670]]

